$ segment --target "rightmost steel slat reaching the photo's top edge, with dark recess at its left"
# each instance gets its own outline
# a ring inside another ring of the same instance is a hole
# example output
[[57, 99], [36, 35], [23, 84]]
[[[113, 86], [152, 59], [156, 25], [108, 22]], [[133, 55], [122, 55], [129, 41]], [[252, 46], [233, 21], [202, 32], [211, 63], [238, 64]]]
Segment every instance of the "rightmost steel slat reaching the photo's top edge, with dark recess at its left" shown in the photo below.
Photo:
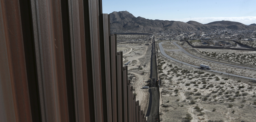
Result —
[[[92, 88], [89, 91], [89, 94], [93, 94], [93, 101], [90, 102], [92, 105], [90, 110], [92, 110], [93, 114], [90, 116], [91, 121], [103, 121], [103, 106], [102, 106], [102, 89], [101, 89], [101, 58], [100, 58], [100, 29], [99, 23], [102, 23], [103, 20], [99, 19], [100, 12], [99, 6], [101, 4], [99, 1], [88, 0], [84, 1], [84, 14], [85, 14], [85, 26], [87, 28], [85, 31], [89, 33], [90, 40], [87, 40], [88, 44], [90, 44], [90, 48], [86, 49], [86, 54], [90, 55], [90, 59], [88, 63], [91, 64], [88, 67], [88, 76], [90, 76], [92, 83], [89, 84], [89, 87]], [[101, 21], [101, 22], [100, 22]], [[87, 25], [86, 25], [87, 24]], [[87, 57], [87, 56], [86, 56]], [[91, 98], [91, 99], [92, 99]], [[93, 103], [92, 103], [93, 102]]]

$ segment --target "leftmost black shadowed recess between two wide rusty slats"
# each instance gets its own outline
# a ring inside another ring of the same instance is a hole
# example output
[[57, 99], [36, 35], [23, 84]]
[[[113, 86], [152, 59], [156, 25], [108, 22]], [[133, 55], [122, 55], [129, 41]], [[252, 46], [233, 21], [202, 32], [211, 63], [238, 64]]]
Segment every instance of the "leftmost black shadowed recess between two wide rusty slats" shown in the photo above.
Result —
[[41, 121], [31, 1], [19, 1], [32, 121]]

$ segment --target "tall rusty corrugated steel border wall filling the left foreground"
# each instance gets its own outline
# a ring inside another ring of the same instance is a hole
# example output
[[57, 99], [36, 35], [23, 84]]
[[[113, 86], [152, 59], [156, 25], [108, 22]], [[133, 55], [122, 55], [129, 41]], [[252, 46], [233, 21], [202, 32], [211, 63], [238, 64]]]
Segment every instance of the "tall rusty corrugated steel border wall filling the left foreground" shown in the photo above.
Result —
[[0, 36], [1, 121], [144, 119], [101, 1], [3, 0]]

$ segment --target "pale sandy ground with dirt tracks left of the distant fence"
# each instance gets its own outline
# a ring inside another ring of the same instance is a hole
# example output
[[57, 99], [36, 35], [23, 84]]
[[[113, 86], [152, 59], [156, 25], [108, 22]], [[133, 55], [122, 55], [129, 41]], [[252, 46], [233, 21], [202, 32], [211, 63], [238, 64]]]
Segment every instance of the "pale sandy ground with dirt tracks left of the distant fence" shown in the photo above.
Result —
[[[134, 35], [123, 35], [121, 37], [130, 37], [130, 39], [138, 39], [142, 36], [140, 35], [138, 37]], [[149, 92], [148, 89], [142, 89], [142, 87], [146, 85], [145, 81], [147, 81], [150, 76], [151, 43], [151, 41], [144, 40], [124, 41], [117, 43], [117, 51], [123, 51], [124, 54], [123, 65], [128, 61], [131, 61], [127, 65], [128, 79], [131, 80], [131, 84], [134, 89], [134, 94], [136, 94], [136, 100], [139, 100], [141, 110], [143, 110], [143, 113], [145, 114], [147, 112], [147, 106], [149, 104]]]

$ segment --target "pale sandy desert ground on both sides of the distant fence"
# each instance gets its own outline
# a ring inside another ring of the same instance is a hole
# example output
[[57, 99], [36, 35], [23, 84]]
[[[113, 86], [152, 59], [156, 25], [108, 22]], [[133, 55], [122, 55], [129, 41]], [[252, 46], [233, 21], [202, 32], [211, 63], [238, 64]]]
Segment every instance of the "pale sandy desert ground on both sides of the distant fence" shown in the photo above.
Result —
[[[158, 46], [158, 43], [160, 42], [163, 42], [163, 40], [156, 40], [156, 46]], [[147, 109], [149, 93], [147, 92], [147, 89], [141, 88], [145, 85], [143, 81], [148, 80], [150, 75], [151, 45], [146, 44], [151, 43], [151, 41], [123, 41], [117, 44], [117, 50], [123, 51], [123, 54], [129, 52], [132, 48], [130, 53], [124, 55], [123, 64], [131, 61], [128, 65], [128, 77], [132, 81], [136, 100], [140, 101], [140, 105], [144, 113]], [[234, 65], [255, 68], [253, 60], [247, 63], [247, 59], [250, 59], [247, 57], [254, 56], [256, 52], [244, 52], [228, 49], [194, 49], [184, 42], [177, 42], [177, 44], [189, 53], [201, 58], [209, 58], [210, 60], [223, 63], [232, 63]], [[201, 70], [184, 64], [182, 65], [181, 63], [164, 57], [160, 53], [159, 47], [156, 48], [160, 76], [159, 79], [161, 79], [161, 121], [186, 121], [189, 119], [193, 122], [255, 121], [256, 87], [254, 83], [249, 83], [248, 79], [245, 78], [228, 76], [211, 72], [210, 70]], [[209, 64], [214, 70], [230, 72], [232, 74], [247, 77], [256, 77], [256, 72], [254, 70], [214, 64], [190, 57], [179, 51], [179, 48], [172, 42], [163, 43], [163, 48], [169, 56], [182, 60], [183, 62], [193, 65]], [[211, 54], [214, 53], [216, 55], [211, 57], [213, 56]], [[208, 54], [210, 56], [208, 56]], [[229, 54], [235, 57], [232, 57]], [[240, 57], [236, 58], [238, 55]], [[218, 58], [220, 56], [222, 58]], [[227, 56], [229, 56], [230, 59], [227, 60], [224, 58]], [[246, 56], [244, 57], [245, 59], [241, 58], [243, 56]], [[238, 61], [231, 58], [235, 58]]]

